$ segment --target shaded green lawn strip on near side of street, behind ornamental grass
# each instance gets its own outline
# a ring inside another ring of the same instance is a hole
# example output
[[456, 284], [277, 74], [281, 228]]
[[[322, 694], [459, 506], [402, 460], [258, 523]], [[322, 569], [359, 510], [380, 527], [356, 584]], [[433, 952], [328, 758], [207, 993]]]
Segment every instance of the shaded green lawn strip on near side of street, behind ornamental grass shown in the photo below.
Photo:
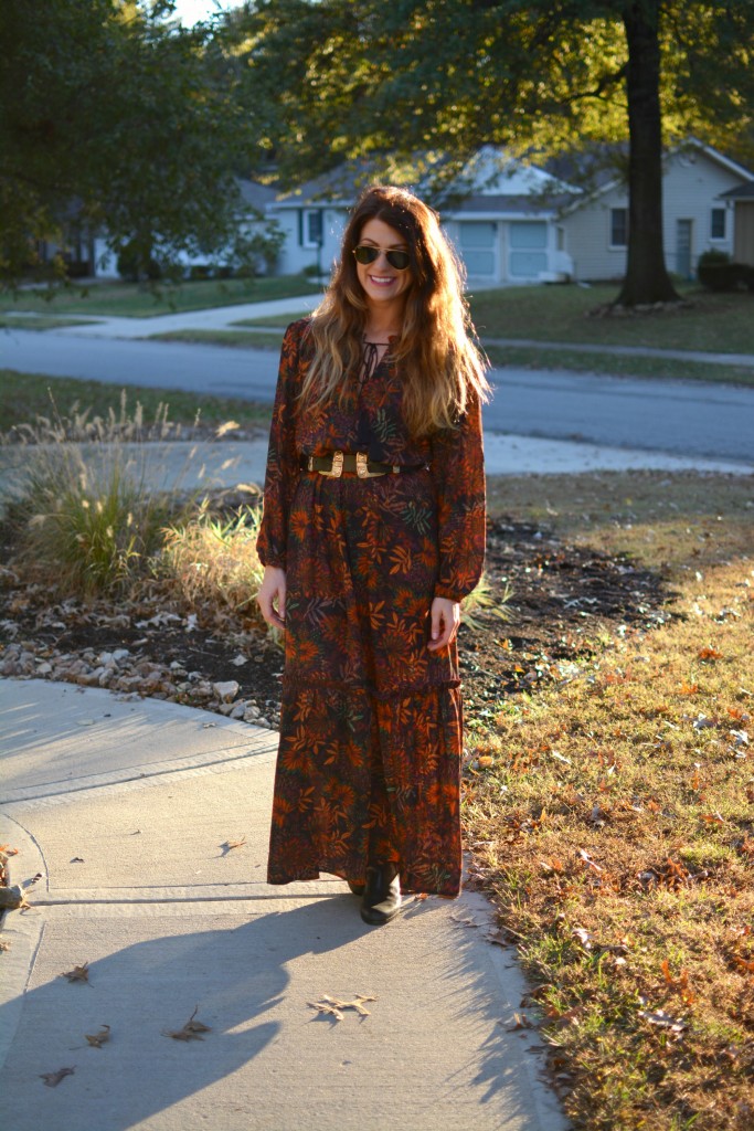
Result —
[[[76, 412], [89, 409], [89, 420], [105, 418], [109, 411], [120, 416], [121, 388], [102, 381], [79, 381], [69, 377], [43, 377], [38, 373], [18, 373], [0, 370], [0, 433], [20, 424], [33, 424], [37, 416], [70, 417]], [[125, 389], [127, 407], [132, 414], [137, 402], [144, 408], [145, 422], [150, 423], [167, 405], [167, 420], [190, 425], [197, 413], [206, 424], [223, 424], [234, 420], [244, 428], [267, 432], [271, 405], [231, 397], [210, 397], [177, 389], [146, 389], [129, 386]]]

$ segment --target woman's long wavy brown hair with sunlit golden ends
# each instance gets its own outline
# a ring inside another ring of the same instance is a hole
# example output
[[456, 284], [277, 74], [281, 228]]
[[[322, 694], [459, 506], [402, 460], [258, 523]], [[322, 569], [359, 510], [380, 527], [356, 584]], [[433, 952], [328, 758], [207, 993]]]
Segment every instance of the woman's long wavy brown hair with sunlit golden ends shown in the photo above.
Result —
[[404, 382], [406, 424], [413, 435], [426, 435], [453, 426], [475, 395], [487, 400], [489, 385], [486, 359], [471, 339], [462, 267], [436, 213], [404, 189], [373, 185], [354, 207], [340, 261], [312, 316], [313, 356], [301, 400], [315, 406], [337, 397], [343, 403], [358, 379], [367, 302], [353, 251], [370, 219], [381, 219], [399, 232], [411, 257], [402, 331], [390, 352]]

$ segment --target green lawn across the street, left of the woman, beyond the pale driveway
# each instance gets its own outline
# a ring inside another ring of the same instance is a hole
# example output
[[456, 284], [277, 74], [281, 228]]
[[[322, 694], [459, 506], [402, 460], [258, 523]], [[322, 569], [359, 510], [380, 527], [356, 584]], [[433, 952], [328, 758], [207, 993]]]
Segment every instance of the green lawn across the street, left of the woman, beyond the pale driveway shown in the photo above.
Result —
[[184, 310], [235, 307], [245, 302], [267, 302], [318, 294], [319, 284], [303, 275], [276, 275], [270, 278], [206, 279], [187, 282], [158, 291], [136, 283], [103, 282], [89, 287], [40, 287], [15, 295], [0, 294], [0, 311], [40, 311], [45, 314], [104, 314], [127, 318], [155, 318]]

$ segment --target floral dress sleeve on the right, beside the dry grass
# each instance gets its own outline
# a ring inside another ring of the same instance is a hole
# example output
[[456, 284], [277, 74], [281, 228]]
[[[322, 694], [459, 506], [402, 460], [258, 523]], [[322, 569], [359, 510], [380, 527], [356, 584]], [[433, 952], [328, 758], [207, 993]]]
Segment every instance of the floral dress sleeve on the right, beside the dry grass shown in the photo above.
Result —
[[482, 405], [474, 397], [456, 429], [432, 440], [440, 576], [435, 597], [461, 601], [482, 577], [486, 542]]

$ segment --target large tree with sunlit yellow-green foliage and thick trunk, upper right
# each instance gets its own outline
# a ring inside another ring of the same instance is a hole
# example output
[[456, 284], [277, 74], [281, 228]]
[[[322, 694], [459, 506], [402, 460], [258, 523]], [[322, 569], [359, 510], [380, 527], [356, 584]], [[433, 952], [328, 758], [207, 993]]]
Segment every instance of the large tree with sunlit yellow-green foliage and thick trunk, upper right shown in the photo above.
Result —
[[234, 27], [292, 183], [369, 158], [441, 189], [489, 143], [539, 157], [629, 143], [629, 304], [675, 295], [664, 136], [730, 147], [752, 133], [752, 3], [258, 0]]

